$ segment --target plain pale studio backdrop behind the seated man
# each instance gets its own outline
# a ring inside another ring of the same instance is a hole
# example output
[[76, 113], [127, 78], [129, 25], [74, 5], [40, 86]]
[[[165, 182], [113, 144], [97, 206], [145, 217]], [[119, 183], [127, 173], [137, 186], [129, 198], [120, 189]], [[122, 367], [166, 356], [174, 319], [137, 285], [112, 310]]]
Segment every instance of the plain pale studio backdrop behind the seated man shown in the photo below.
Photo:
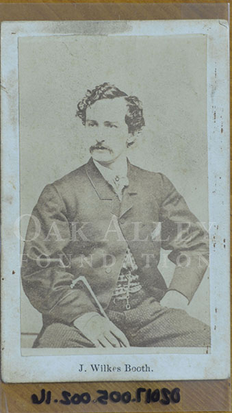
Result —
[[[45, 185], [90, 158], [77, 101], [109, 82], [144, 108], [146, 126], [128, 152], [131, 162], [167, 175], [207, 227], [205, 36], [38, 36], [20, 38], [18, 54], [21, 215], [31, 214]], [[27, 223], [23, 218], [23, 237]], [[174, 267], [161, 256], [167, 284]], [[189, 310], [209, 324], [209, 271]], [[23, 291], [21, 314], [21, 331], [37, 333], [41, 314]]]

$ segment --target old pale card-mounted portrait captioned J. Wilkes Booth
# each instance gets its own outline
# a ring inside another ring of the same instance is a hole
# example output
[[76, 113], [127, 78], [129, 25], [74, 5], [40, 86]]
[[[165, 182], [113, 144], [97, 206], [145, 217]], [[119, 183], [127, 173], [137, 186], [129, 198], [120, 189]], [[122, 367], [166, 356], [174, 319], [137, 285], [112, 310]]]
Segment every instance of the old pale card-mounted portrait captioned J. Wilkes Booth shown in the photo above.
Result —
[[2, 23], [3, 381], [229, 377], [228, 38]]

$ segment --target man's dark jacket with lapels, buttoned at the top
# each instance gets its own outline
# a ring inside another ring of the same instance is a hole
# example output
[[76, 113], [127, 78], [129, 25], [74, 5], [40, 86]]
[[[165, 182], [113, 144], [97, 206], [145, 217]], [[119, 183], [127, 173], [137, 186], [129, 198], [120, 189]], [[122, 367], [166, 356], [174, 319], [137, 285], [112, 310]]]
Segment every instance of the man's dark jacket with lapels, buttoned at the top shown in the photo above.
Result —
[[[205, 232], [167, 177], [129, 161], [128, 177], [120, 203], [90, 158], [42, 191], [27, 229], [22, 280], [44, 323], [72, 323], [81, 314], [97, 311], [88, 290], [78, 284], [70, 288], [79, 275], [107, 308], [127, 243], [149, 295], [159, 301], [167, 290], [157, 268], [162, 247], [177, 264], [169, 289], [192, 299], [207, 267], [199, 257], [208, 253]], [[180, 253], [185, 255], [180, 258]]]

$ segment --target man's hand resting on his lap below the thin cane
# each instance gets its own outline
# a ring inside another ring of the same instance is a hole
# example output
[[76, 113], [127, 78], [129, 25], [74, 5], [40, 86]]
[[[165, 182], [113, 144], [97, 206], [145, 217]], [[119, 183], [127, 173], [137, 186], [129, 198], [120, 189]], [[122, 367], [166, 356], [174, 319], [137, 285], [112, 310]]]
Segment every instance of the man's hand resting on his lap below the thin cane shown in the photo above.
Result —
[[84, 314], [73, 324], [95, 347], [129, 347], [129, 341], [123, 331], [98, 313]]

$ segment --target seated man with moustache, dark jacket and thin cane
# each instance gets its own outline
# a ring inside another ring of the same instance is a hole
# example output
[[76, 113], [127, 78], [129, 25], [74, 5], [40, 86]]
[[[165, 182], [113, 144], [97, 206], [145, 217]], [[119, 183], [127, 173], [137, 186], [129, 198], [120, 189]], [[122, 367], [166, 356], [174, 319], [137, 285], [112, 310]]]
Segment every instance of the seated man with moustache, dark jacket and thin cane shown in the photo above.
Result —
[[[47, 185], [27, 229], [23, 288], [42, 313], [34, 347], [203, 347], [188, 315], [207, 268], [207, 233], [168, 178], [132, 165], [142, 104], [104, 83], [77, 105], [91, 158]], [[157, 268], [170, 251], [167, 288]]]

